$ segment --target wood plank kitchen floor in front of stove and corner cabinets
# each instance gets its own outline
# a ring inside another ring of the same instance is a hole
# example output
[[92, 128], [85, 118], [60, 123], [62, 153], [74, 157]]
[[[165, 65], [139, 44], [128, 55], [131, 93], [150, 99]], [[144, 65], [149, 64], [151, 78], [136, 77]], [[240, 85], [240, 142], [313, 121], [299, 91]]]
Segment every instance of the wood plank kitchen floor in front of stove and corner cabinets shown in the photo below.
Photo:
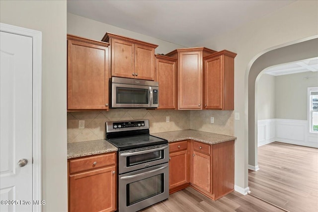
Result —
[[232, 192], [213, 201], [188, 187], [142, 212], [283, 212], [250, 195]]

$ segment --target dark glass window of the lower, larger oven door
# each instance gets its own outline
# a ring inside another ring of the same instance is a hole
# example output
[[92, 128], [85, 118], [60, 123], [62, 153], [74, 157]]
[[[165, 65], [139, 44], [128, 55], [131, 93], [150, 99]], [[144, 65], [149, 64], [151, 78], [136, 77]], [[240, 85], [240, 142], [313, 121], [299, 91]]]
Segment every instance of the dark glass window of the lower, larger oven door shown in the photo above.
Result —
[[135, 203], [163, 193], [163, 176], [163, 174], [159, 174], [127, 184], [127, 206], [131, 206]]

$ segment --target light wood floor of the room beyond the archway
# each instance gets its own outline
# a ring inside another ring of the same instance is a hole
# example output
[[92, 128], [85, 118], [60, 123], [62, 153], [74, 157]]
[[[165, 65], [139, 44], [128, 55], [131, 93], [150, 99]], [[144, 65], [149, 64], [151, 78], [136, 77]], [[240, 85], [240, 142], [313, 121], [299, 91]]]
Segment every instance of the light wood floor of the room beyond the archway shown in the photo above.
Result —
[[251, 194], [290, 212], [318, 212], [318, 149], [273, 142], [258, 147], [260, 170], [250, 171]]

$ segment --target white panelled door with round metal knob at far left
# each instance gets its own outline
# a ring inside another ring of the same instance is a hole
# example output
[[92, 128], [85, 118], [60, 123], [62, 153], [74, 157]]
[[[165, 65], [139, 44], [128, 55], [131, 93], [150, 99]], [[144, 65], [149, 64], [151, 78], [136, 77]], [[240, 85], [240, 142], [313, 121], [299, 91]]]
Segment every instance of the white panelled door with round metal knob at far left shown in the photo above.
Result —
[[2, 31], [0, 153], [0, 211], [31, 212], [32, 37]]

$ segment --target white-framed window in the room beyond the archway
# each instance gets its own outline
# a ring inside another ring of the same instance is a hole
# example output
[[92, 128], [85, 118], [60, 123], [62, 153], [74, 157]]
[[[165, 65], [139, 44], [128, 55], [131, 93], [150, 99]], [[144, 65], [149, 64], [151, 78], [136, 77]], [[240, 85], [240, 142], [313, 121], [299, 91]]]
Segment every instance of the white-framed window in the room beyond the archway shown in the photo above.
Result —
[[308, 118], [311, 133], [318, 133], [318, 87], [308, 88]]

